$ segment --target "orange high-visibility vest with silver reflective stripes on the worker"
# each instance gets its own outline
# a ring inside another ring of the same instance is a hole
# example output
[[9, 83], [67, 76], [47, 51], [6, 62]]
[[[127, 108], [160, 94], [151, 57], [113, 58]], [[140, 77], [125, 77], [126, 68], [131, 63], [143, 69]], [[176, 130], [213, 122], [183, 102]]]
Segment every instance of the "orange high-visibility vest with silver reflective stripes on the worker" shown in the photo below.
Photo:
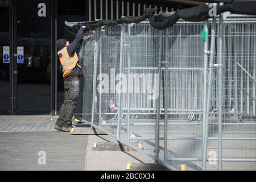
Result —
[[70, 57], [68, 54], [67, 47], [64, 47], [58, 52], [58, 56], [60, 59], [60, 63], [63, 68], [63, 78], [69, 75], [73, 71], [73, 69], [76, 67], [76, 65], [81, 68], [81, 66], [77, 63], [79, 61], [79, 57], [77, 56], [77, 53], [74, 53], [73, 57]]

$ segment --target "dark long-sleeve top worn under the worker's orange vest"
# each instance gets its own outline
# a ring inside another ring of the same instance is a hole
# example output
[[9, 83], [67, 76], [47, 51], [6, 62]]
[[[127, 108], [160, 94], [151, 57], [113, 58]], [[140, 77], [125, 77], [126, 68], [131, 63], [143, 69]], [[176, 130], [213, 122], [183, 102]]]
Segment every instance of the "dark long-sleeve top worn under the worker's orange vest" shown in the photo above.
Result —
[[[76, 38], [73, 40], [73, 42], [67, 46], [67, 51], [69, 56], [73, 56], [75, 54], [76, 51], [78, 51], [81, 42], [82, 42], [82, 36], [84, 35], [84, 28], [80, 28], [79, 32], [77, 32], [76, 34]], [[82, 66], [81, 64], [81, 60], [79, 58], [79, 65]], [[64, 78], [64, 80], [71, 78], [71, 77], [76, 77], [76, 76], [82, 76], [82, 68], [79, 68], [77, 65], [76, 67], [73, 69], [73, 71], [71, 73], [69, 73], [69, 75], [67, 77]]]

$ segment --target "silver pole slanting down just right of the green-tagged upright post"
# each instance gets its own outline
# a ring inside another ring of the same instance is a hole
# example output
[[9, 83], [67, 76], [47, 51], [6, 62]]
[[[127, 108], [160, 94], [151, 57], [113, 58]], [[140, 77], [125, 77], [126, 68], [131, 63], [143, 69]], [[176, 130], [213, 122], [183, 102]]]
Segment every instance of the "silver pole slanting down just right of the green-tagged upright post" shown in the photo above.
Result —
[[203, 138], [203, 170], [205, 171], [207, 167], [207, 140], [208, 140], [208, 129], [209, 129], [209, 115], [210, 115], [210, 98], [212, 96], [212, 75], [213, 75], [213, 61], [215, 55], [215, 28], [216, 28], [216, 18], [213, 18], [211, 26], [211, 39], [210, 39], [210, 61], [209, 61], [209, 81], [207, 90], [207, 113], [205, 120], [205, 130]]

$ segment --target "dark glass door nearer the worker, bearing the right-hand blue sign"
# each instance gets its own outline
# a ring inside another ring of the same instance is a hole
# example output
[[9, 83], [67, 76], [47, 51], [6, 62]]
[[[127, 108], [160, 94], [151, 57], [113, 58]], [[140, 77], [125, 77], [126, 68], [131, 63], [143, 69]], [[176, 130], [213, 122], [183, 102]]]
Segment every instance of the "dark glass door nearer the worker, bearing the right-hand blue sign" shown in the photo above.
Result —
[[49, 0], [16, 1], [16, 114], [51, 114], [51, 14]]

